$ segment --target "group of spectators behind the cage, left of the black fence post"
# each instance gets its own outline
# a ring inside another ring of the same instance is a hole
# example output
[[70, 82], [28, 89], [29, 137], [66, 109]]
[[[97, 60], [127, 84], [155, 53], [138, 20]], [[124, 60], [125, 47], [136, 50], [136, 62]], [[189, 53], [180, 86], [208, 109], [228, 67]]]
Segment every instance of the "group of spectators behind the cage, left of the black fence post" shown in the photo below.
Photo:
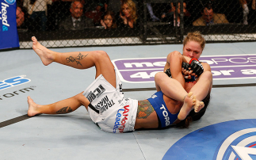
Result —
[[138, 17], [135, 0], [21, 0], [17, 3], [18, 29], [134, 29]]

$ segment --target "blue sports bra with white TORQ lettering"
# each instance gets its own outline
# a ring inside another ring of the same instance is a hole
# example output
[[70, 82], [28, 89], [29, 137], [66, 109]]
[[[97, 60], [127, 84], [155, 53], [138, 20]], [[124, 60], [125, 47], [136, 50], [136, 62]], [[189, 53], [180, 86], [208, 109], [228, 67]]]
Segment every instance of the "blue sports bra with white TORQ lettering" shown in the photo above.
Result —
[[155, 109], [157, 116], [159, 118], [159, 128], [165, 128], [170, 124], [173, 124], [175, 120], [178, 119], [178, 113], [172, 114], [166, 107], [165, 101], [163, 101], [163, 93], [159, 91], [153, 94], [147, 99]]

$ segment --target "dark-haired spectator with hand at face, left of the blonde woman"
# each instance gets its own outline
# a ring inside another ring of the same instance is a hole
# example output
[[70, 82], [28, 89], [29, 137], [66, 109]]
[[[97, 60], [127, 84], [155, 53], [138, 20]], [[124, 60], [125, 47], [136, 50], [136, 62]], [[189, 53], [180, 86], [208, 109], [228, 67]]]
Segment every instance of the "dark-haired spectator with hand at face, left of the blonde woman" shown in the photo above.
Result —
[[105, 29], [116, 29], [117, 28], [117, 23], [116, 23], [113, 11], [105, 12], [105, 14], [103, 16], [103, 20], [101, 20], [101, 25]]

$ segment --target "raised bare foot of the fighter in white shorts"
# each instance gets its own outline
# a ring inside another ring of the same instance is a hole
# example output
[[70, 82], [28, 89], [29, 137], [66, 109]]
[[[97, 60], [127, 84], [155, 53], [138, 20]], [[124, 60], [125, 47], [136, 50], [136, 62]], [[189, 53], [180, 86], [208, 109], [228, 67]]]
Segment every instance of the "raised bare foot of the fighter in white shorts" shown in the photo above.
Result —
[[32, 36], [32, 49], [39, 55], [44, 66], [48, 66], [48, 64], [52, 63], [54, 56], [51, 54], [51, 51], [48, 48], [42, 46], [37, 40], [35, 36]]

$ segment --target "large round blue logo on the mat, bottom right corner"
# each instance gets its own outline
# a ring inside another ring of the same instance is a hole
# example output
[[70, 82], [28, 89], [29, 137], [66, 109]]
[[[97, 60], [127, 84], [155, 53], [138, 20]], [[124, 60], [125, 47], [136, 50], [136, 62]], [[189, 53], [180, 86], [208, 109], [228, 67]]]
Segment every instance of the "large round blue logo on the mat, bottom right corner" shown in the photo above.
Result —
[[166, 159], [256, 159], [256, 119], [213, 124], [185, 135], [166, 152]]

